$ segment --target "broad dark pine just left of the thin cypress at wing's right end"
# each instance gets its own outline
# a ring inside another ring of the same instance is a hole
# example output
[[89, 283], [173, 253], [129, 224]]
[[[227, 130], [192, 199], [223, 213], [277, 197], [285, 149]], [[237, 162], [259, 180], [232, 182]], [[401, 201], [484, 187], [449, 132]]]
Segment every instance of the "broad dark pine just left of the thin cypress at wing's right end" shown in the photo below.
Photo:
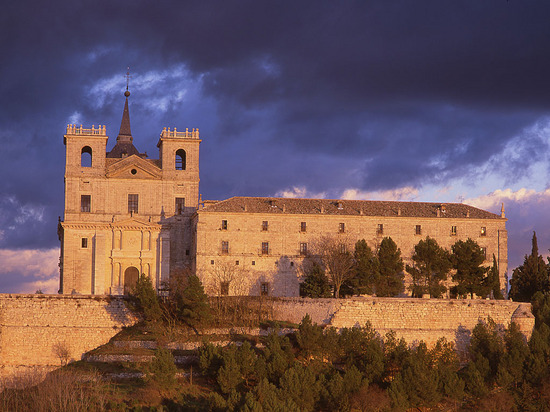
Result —
[[453, 251], [453, 267], [456, 269], [453, 280], [457, 283], [458, 294], [487, 295], [489, 288], [486, 275], [489, 268], [482, 266], [485, 261], [485, 253], [477, 242], [470, 238], [466, 241], [459, 240], [451, 249]]

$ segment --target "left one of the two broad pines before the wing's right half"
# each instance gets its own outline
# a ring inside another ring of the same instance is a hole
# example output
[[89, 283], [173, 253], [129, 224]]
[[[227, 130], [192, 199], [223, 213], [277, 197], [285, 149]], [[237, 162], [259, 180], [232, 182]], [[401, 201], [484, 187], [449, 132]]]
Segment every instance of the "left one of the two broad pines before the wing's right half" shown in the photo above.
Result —
[[414, 266], [407, 265], [407, 272], [413, 278], [413, 296], [421, 297], [424, 293], [429, 293], [434, 298], [441, 297], [447, 290], [441, 282], [447, 280], [451, 270], [449, 252], [428, 236], [414, 247], [412, 260]]

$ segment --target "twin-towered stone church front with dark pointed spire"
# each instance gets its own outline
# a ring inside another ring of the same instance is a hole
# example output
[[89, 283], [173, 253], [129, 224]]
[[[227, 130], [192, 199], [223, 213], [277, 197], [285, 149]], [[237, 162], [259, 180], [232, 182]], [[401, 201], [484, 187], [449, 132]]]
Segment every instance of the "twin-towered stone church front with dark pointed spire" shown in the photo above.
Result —
[[132, 143], [128, 95], [110, 152], [105, 126], [67, 126], [60, 293], [122, 294], [140, 273], [160, 286], [192, 263], [199, 131], [164, 128], [148, 159]]

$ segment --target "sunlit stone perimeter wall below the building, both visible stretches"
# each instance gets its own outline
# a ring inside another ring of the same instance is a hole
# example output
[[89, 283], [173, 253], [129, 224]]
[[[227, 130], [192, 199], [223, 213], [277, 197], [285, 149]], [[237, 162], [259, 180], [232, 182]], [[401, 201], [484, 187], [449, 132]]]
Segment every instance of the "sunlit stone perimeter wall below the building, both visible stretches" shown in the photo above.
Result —
[[[278, 320], [299, 323], [309, 314], [313, 322], [336, 328], [370, 322], [381, 335], [393, 330], [408, 343], [428, 344], [445, 337], [459, 350], [480, 319], [490, 317], [502, 327], [517, 322], [526, 337], [534, 327], [531, 305], [511, 301], [274, 298], [264, 305]], [[81, 359], [136, 321], [122, 298], [0, 294], [0, 374], [59, 366], [56, 345], [66, 347], [71, 359]]]

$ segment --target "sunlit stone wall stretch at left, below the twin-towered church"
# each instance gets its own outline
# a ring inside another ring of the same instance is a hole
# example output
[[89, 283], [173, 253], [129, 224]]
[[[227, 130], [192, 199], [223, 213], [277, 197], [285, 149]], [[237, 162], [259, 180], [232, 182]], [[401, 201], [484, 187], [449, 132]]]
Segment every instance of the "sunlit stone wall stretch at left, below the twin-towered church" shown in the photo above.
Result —
[[121, 298], [0, 294], [0, 374], [59, 366], [57, 345], [79, 360], [136, 321]]

